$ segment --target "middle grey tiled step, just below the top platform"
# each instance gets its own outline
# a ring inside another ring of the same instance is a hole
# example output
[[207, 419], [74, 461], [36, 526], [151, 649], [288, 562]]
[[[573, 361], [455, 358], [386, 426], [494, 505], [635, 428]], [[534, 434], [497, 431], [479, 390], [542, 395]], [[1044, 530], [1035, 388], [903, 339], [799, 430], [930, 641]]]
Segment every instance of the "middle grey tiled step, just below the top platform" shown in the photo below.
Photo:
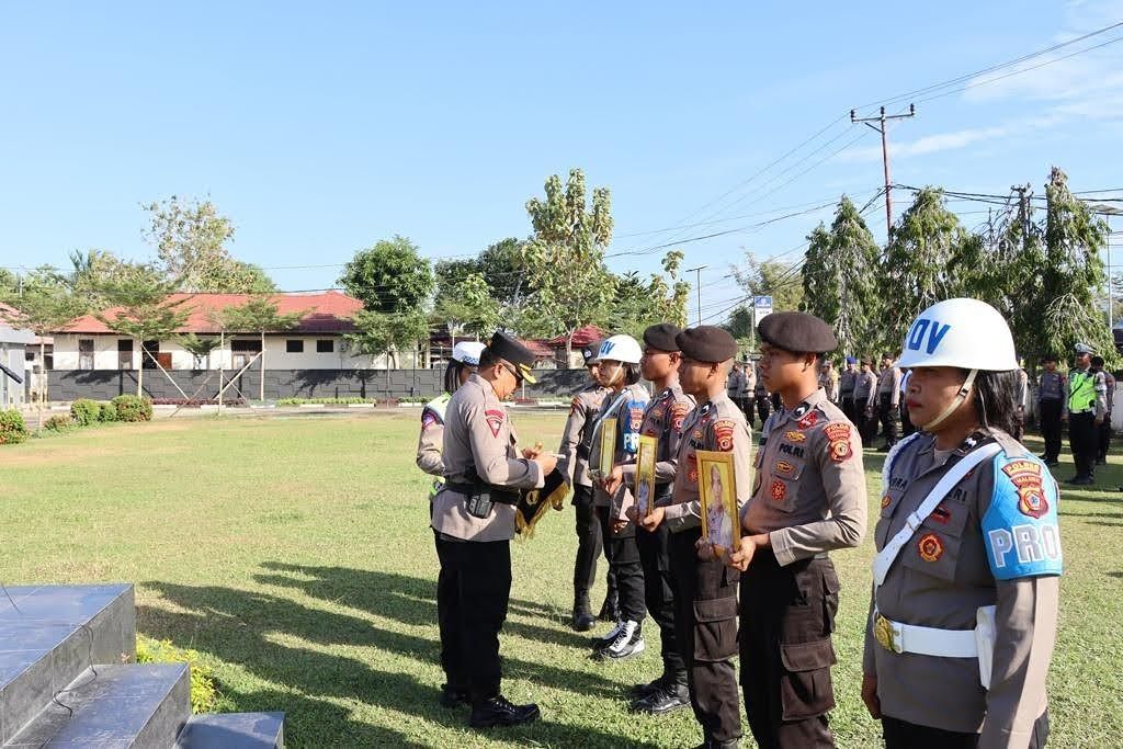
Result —
[[95, 666], [4, 747], [172, 747], [191, 714], [186, 664]]

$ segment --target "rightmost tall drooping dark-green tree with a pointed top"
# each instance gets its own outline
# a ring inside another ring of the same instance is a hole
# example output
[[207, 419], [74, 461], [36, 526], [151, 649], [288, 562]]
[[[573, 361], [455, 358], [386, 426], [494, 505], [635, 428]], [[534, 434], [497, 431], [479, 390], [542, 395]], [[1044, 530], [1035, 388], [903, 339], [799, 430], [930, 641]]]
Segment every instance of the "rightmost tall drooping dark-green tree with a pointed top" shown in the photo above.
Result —
[[1035, 348], [1062, 353], [1084, 341], [1114, 364], [1119, 356], [1098, 305], [1107, 283], [1101, 253], [1107, 248], [1111, 229], [1072, 195], [1068, 176], [1057, 167], [1049, 175], [1046, 200], [1044, 263], [1037, 302], [1041, 322]]

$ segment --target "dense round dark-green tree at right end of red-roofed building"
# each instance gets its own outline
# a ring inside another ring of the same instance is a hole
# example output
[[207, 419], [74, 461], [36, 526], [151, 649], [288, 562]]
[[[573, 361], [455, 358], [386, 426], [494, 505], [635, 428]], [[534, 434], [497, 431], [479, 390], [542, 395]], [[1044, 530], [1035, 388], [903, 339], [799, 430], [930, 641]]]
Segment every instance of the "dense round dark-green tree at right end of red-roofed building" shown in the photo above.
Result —
[[363, 302], [364, 309], [355, 316], [357, 331], [348, 336], [356, 350], [387, 355], [398, 366], [399, 350], [428, 338], [426, 308], [433, 292], [433, 273], [405, 237], [395, 235], [356, 253], [339, 283]]

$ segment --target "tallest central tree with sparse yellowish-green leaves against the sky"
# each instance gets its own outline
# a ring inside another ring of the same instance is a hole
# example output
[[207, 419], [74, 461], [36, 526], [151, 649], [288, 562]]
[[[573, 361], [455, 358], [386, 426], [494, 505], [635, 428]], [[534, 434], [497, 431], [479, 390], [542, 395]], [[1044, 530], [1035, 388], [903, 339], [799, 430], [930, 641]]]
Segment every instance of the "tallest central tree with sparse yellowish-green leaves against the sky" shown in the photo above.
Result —
[[527, 201], [535, 234], [522, 258], [535, 292], [524, 320], [539, 335], [565, 336], [568, 363], [574, 332], [602, 323], [612, 300], [615, 283], [604, 265], [612, 240], [611, 194], [596, 188], [588, 204], [579, 168], [569, 171], [564, 188], [562, 177], [551, 174], [545, 192], [544, 200]]

